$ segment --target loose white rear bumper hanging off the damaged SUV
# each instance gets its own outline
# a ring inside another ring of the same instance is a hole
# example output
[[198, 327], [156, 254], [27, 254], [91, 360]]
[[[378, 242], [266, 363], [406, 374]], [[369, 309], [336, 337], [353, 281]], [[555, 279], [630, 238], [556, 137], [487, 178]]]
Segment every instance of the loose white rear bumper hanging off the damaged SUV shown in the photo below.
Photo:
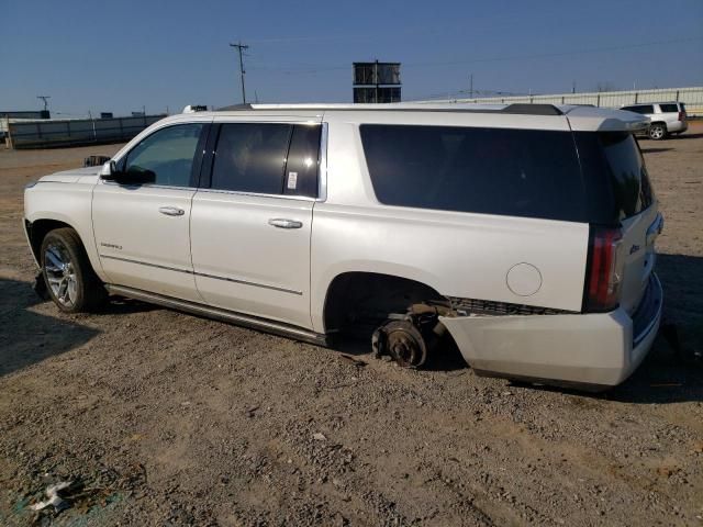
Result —
[[442, 317], [478, 372], [553, 384], [614, 386], [651, 348], [661, 321], [661, 283], [651, 274], [637, 312]]

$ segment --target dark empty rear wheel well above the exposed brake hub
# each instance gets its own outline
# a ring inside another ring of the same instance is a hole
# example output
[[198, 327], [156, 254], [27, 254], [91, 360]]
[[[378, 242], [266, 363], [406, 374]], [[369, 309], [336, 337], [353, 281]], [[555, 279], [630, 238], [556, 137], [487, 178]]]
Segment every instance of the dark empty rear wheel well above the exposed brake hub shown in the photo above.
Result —
[[337, 276], [325, 299], [325, 332], [373, 330], [390, 313], [405, 313], [423, 301], [446, 301], [429, 285], [375, 272]]

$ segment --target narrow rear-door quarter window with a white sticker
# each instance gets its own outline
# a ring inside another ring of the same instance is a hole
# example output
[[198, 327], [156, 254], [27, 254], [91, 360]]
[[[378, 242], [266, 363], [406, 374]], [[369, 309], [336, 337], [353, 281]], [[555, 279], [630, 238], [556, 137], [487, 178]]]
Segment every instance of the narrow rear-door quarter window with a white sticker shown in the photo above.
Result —
[[320, 133], [322, 126], [295, 125], [288, 150], [283, 193], [317, 197]]

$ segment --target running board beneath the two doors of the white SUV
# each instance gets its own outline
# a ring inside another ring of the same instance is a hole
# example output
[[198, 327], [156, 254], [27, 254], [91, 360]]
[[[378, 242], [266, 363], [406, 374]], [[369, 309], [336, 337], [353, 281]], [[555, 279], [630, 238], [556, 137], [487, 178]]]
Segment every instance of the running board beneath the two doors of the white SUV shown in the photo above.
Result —
[[125, 288], [124, 285], [112, 285], [107, 283], [105, 289], [110, 294], [127, 296], [130, 299], [141, 300], [149, 304], [157, 304], [164, 307], [191, 313], [193, 315], [204, 316], [207, 318], [215, 318], [217, 321], [228, 322], [237, 326], [245, 326], [252, 329], [272, 333], [275, 335], [280, 335], [281, 337], [293, 338], [295, 340], [302, 340], [304, 343], [315, 344], [317, 346], [328, 346], [330, 344], [326, 335], [310, 332], [308, 329], [291, 326], [289, 324], [283, 324], [280, 322], [267, 321], [257, 316], [244, 315], [242, 313], [221, 310], [219, 307], [212, 307], [210, 305], [201, 305], [194, 302], [188, 302], [187, 300], [172, 299], [170, 296], [149, 293], [148, 291], [142, 291], [140, 289]]

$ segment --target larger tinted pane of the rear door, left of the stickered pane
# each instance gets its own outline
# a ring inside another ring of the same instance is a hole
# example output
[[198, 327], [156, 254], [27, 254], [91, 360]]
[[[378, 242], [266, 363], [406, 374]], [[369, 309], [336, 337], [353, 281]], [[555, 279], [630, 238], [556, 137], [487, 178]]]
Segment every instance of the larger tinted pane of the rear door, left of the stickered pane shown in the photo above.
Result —
[[211, 187], [280, 194], [291, 128], [289, 124], [223, 124], [212, 167]]

